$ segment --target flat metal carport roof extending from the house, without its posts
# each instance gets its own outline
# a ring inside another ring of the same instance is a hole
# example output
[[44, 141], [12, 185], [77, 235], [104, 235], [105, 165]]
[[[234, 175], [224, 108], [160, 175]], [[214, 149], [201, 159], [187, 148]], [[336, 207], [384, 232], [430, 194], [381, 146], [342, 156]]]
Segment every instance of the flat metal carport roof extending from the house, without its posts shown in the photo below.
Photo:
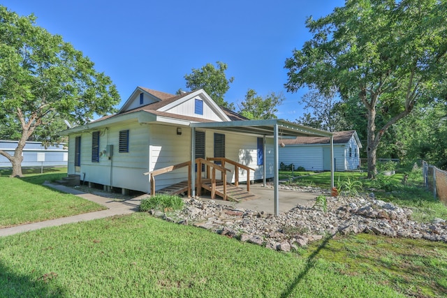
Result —
[[210, 128], [220, 131], [232, 131], [235, 133], [250, 133], [254, 135], [274, 136], [274, 126], [277, 125], [278, 133], [284, 137], [331, 137], [329, 131], [293, 124], [283, 119], [268, 120], [242, 120], [223, 122], [191, 123], [191, 128]]

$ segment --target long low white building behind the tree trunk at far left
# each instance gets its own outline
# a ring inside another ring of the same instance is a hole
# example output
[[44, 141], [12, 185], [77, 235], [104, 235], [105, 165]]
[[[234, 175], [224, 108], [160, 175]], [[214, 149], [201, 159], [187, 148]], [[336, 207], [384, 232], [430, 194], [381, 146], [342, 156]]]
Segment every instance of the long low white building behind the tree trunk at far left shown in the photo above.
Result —
[[[14, 155], [17, 141], [0, 140], [0, 150]], [[41, 142], [27, 142], [23, 149], [22, 167], [66, 167], [68, 149], [65, 143], [50, 145], [45, 148]], [[12, 167], [8, 158], [0, 155], [0, 167]]]

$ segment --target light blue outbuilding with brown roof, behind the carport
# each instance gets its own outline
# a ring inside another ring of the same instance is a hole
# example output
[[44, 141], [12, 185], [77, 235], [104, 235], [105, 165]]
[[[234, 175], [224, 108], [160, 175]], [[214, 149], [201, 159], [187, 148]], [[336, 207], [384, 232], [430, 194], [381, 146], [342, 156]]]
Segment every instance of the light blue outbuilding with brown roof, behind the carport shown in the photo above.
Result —
[[[328, 137], [296, 137], [284, 139], [279, 148], [279, 161], [295, 169], [304, 167], [310, 171], [330, 170], [330, 140]], [[362, 148], [356, 131], [334, 133], [335, 171], [357, 170], [360, 166], [359, 149]]]

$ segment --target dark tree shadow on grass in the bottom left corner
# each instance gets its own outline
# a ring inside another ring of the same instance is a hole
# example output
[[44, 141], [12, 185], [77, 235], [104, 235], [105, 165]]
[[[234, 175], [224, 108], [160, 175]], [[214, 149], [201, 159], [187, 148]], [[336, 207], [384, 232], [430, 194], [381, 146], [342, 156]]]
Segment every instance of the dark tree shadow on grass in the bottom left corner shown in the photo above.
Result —
[[56, 279], [54, 272], [36, 278], [19, 275], [0, 261], [0, 297], [66, 297], [66, 290], [54, 284]]

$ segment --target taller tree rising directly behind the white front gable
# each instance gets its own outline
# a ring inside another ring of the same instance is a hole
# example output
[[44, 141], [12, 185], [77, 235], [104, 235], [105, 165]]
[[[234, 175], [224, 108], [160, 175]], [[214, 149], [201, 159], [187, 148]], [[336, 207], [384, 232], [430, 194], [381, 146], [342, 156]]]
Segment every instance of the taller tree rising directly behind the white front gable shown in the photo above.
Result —
[[214, 68], [214, 65], [210, 63], [202, 66], [202, 68], [193, 68], [191, 74], [184, 76], [186, 88], [190, 90], [203, 89], [217, 105], [233, 109], [233, 103], [227, 103], [223, 97], [230, 89], [230, 83], [235, 79], [234, 77], [226, 78], [225, 70], [228, 68], [226, 64], [219, 61], [216, 63], [217, 68]]

